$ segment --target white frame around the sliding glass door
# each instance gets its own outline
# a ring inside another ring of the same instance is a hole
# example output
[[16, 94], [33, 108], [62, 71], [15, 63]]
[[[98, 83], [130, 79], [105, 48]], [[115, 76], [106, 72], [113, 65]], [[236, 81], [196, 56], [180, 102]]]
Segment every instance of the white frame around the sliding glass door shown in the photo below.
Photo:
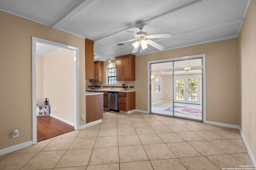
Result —
[[[166, 63], [166, 62], [174, 62], [174, 61], [182, 61], [182, 60], [191, 60], [191, 59], [202, 59], [202, 121], [206, 122], [206, 55], [199, 54], [199, 55], [190, 55], [184, 57], [176, 57], [170, 59], [162, 59], [162, 60], [155, 60], [155, 61], [148, 61], [148, 113], [150, 113], [150, 106], [151, 106], [151, 95], [150, 95], [150, 88], [151, 87], [151, 69], [150, 64], [157, 64], [157, 63]], [[174, 90], [174, 88], [173, 88]], [[173, 92], [174, 94], [174, 92]], [[174, 100], [174, 95], [173, 95]], [[174, 102], [174, 101], [173, 101]]]

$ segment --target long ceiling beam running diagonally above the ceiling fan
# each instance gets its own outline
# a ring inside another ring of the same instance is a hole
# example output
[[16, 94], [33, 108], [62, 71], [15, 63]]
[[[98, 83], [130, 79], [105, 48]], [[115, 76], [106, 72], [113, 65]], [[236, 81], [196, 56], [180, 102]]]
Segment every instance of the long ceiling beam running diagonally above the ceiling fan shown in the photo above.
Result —
[[[142, 23], [148, 23], [148, 22], [153, 21], [153, 20], [156, 20], [156, 19], [158, 19], [158, 18], [160, 18], [160, 17], [162, 17], [162, 16], [165, 16], [165, 15], [170, 14], [170, 13], [177, 12], [177, 11], [179, 11], [179, 10], [183, 10], [183, 9], [189, 7], [189, 6], [192, 6], [192, 5], [197, 4], [198, 2], [202, 2], [202, 1], [203, 1], [203, 0], [194, 0], [194, 1], [192, 1], [192, 2], [189, 2], [189, 3], [187, 3], [187, 4], [184, 4], [184, 5], [179, 6], [179, 7], [177, 7], [177, 8], [174, 8], [174, 9], [172, 9], [172, 10], [169, 10], [169, 11], [167, 11], [167, 12], [164, 12], [164, 13], [162, 13], [162, 14], [159, 14], [159, 15], [157, 15], [157, 16], [154, 16], [154, 17], [152, 17], [152, 18], [150, 18], [150, 19], [148, 19], [148, 20], [146, 20], [146, 21], [143, 21]], [[133, 27], [137, 27], [138, 24], [139, 24], [139, 23], [136, 23], [136, 24], [134, 24], [134, 25], [131, 25], [131, 26], [129, 26], [129, 27], [126, 27], [126, 28], [124, 28], [124, 29], [121, 29], [121, 30], [119, 30], [119, 31], [116, 31], [116, 32], [114, 32], [114, 33], [105, 35], [105, 36], [100, 37], [100, 38], [98, 38], [98, 39], [94, 39], [93, 41], [94, 41], [94, 42], [95, 42], [95, 41], [99, 41], [99, 40], [101, 40], [101, 39], [104, 39], [104, 38], [106, 38], [106, 37], [110, 37], [110, 36], [112, 36], [112, 35], [118, 34], [118, 33], [122, 32], [122, 31], [127, 30], [127, 29], [130, 29], [130, 28], [133, 28]]]

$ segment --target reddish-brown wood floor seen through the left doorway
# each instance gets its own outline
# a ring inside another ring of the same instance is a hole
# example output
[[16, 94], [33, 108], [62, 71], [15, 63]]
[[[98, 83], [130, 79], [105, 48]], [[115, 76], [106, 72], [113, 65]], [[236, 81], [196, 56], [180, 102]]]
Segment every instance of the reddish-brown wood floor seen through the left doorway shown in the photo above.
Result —
[[38, 142], [74, 131], [74, 126], [64, 123], [52, 116], [38, 116], [36, 117], [36, 121]]

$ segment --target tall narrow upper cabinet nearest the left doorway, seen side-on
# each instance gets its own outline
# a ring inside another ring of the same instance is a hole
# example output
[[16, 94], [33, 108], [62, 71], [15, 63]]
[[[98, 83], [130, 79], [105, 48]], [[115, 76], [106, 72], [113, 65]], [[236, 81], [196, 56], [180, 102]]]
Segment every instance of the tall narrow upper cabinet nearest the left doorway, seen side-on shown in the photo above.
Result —
[[93, 41], [85, 39], [85, 79], [94, 79]]

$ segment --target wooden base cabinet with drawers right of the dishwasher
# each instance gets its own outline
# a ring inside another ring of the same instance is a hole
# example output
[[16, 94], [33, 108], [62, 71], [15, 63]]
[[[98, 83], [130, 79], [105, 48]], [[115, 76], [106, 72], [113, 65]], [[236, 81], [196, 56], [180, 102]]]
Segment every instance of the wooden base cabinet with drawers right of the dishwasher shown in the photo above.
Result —
[[135, 109], [135, 92], [118, 92], [118, 110], [130, 111]]

